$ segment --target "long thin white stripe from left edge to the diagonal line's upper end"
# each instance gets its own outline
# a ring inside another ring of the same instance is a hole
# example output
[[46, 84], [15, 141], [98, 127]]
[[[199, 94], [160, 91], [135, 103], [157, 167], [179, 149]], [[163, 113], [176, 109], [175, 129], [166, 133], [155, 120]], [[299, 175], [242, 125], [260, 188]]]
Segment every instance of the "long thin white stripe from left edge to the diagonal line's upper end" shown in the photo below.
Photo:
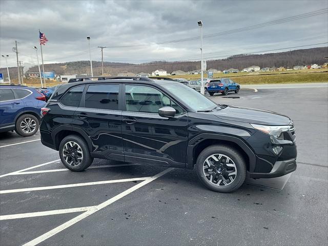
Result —
[[125, 178], [125, 179], [104, 180], [104, 181], [86, 182], [86, 183], [69, 183], [68, 185], [59, 185], [59, 186], [43, 186], [43, 187], [33, 187], [33, 188], [24, 188], [24, 189], [3, 190], [0, 191], [0, 194], [27, 192], [27, 191], [44, 191], [44, 190], [63, 189], [63, 188], [72, 188], [72, 187], [81, 187], [81, 186], [105, 185], [107, 183], [120, 183], [120, 182], [147, 180], [148, 178], [149, 177]]

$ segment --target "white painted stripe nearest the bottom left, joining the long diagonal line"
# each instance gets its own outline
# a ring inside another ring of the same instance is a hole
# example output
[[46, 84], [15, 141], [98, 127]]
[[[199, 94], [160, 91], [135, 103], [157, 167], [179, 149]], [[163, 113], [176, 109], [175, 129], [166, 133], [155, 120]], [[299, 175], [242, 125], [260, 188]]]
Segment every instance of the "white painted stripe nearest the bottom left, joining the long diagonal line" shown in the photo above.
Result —
[[72, 208], [72, 209], [57, 209], [57, 210], [48, 210], [48, 211], [24, 213], [24, 214], [0, 215], [0, 220], [22, 219], [22, 218], [39, 217], [39, 216], [47, 216], [47, 215], [55, 215], [55, 214], [85, 212], [85, 211], [93, 210], [93, 209], [96, 209], [96, 206]]

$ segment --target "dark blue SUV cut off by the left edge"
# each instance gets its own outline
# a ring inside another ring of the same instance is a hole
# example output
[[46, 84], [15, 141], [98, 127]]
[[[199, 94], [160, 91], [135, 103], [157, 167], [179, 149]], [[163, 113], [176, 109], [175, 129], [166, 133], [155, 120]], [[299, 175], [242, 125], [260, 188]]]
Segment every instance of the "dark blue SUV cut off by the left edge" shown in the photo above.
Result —
[[34, 135], [45, 100], [45, 95], [27, 86], [0, 86], [0, 132]]

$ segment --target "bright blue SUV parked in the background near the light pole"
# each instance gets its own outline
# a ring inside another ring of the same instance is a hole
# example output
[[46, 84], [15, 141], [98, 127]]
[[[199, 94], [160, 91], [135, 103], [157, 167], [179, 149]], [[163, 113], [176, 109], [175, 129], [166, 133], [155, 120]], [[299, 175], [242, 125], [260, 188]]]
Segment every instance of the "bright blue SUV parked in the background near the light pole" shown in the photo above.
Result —
[[229, 78], [218, 78], [212, 79], [210, 81], [210, 83], [207, 85], [207, 90], [210, 96], [213, 96], [214, 93], [222, 93], [223, 95], [228, 95], [228, 93], [231, 91], [238, 93], [240, 90], [240, 85]]

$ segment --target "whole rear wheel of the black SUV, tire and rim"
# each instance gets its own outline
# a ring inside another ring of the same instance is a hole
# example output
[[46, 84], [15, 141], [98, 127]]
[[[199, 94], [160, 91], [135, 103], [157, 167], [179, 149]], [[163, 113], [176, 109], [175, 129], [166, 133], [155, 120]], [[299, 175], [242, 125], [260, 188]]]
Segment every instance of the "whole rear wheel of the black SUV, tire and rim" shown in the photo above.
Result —
[[75, 172], [87, 169], [93, 161], [87, 142], [76, 135], [69, 135], [61, 140], [59, 156], [64, 166]]

